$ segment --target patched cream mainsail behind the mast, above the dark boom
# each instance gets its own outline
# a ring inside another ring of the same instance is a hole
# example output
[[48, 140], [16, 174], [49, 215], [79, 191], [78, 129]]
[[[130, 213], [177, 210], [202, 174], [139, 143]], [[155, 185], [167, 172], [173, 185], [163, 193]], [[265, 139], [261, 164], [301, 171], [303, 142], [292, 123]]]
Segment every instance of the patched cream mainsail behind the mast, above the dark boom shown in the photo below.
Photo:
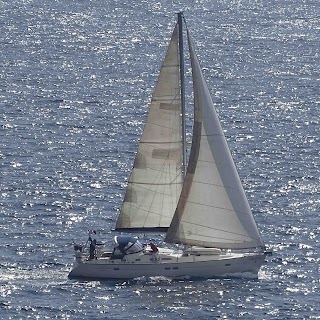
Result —
[[176, 26], [151, 99], [116, 230], [166, 231], [175, 212], [182, 188], [178, 56]]

